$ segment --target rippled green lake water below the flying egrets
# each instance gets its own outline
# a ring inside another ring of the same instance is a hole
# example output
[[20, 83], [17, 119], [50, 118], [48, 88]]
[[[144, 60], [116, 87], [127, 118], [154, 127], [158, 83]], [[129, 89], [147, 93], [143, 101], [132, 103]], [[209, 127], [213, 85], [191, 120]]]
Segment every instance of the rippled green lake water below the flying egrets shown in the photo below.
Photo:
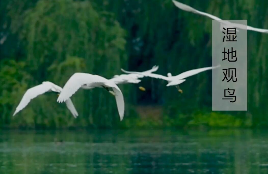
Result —
[[266, 130], [1, 131], [0, 173], [268, 173]]

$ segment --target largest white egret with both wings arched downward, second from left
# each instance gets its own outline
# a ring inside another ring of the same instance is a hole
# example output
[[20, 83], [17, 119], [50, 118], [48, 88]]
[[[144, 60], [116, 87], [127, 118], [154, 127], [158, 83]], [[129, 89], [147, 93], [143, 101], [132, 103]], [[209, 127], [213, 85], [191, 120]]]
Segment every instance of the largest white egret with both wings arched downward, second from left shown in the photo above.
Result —
[[[92, 89], [92, 88], [105, 88], [116, 98], [117, 109], [119, 112], [120, 120], [124, 117], [124, 97], [121, 90], [113, 82], [104, 77], [88, 73], [75, 73], [64, 85], [62, 92], [59, 94], [57, 102], [62, 103], [70, 98], [79, 88], [83, 89]], [[112, 88], [113, 91], [110, 91], [109, 88]]]

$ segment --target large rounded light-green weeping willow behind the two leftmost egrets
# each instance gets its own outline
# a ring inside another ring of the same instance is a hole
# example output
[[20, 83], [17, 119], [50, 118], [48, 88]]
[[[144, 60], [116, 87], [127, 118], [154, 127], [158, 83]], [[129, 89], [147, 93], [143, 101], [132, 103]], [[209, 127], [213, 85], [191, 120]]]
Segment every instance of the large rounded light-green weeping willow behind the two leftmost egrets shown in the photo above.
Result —
[[[42, 81], [63, 86], [75, 72], [111, 78], [126, 62], [124, 29], [113, 14], [95, 10], [89, 1], [38, 1], [20, 16], [14, 17], [11, 28], [24, 46], [24, 68], [32, 76], [27, 87]], [[127, 88], [122, 90], [127, 94]], [[56, 98], [54, 94], [40, 96], [22, 115], [34, 120], [33, 126], [107, 127], [119, 120], [115, 99], [104, 90], [80, 91], [73, 97], [80, 114], [75, 121]]]

